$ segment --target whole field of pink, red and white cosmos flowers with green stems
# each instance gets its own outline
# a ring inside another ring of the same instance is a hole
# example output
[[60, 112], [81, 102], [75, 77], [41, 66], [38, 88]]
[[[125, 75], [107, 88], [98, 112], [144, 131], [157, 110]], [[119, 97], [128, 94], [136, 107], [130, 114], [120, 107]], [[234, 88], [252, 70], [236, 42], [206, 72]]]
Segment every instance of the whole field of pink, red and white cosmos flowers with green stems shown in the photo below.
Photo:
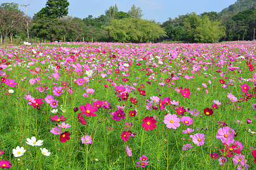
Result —
[[0, 46], [0, 167], [256, 169], [255, 48]]

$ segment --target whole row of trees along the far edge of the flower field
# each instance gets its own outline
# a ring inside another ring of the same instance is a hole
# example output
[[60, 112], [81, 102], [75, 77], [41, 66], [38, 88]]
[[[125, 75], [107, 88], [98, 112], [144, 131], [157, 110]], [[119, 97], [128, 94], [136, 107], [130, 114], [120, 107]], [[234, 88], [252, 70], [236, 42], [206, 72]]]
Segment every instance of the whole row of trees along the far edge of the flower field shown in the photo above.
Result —
[[[17, 3], [0, 6], [1, 44], [14, 37], [20, 42], [29, 33], [32, 39], [46, 41], [105, 41], [105, 42], [217, 42], [253, 40], [256, 9], [225, 15], [204, 12], [179, 15], [163, 24], [142, 19], [141, 8], [135, 5], [127, 12], [117, 5], [105, 10], [105, 15], [81, 19], [68, 16], [68, 0], [48, 0], [46, 6], [32, 18], [19, 10]], [[27, 29], [26, 21], [29, 28]], [[28, 32], [27, 32], [28, 30]], [[34, 41], [34, 42], [35, 42]]]

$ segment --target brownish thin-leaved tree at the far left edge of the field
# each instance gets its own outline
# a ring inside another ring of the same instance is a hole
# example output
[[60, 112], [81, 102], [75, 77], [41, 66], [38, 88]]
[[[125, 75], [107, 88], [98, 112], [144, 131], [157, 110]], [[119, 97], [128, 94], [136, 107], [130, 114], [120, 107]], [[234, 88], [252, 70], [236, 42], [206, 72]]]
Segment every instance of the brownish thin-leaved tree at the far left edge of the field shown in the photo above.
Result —
[[5, 44], [5, 39], [14, 29], [24, 28], [25, 18], [23, 12], [13, 10], [0, 9], [0, 34], [2, 42]]

